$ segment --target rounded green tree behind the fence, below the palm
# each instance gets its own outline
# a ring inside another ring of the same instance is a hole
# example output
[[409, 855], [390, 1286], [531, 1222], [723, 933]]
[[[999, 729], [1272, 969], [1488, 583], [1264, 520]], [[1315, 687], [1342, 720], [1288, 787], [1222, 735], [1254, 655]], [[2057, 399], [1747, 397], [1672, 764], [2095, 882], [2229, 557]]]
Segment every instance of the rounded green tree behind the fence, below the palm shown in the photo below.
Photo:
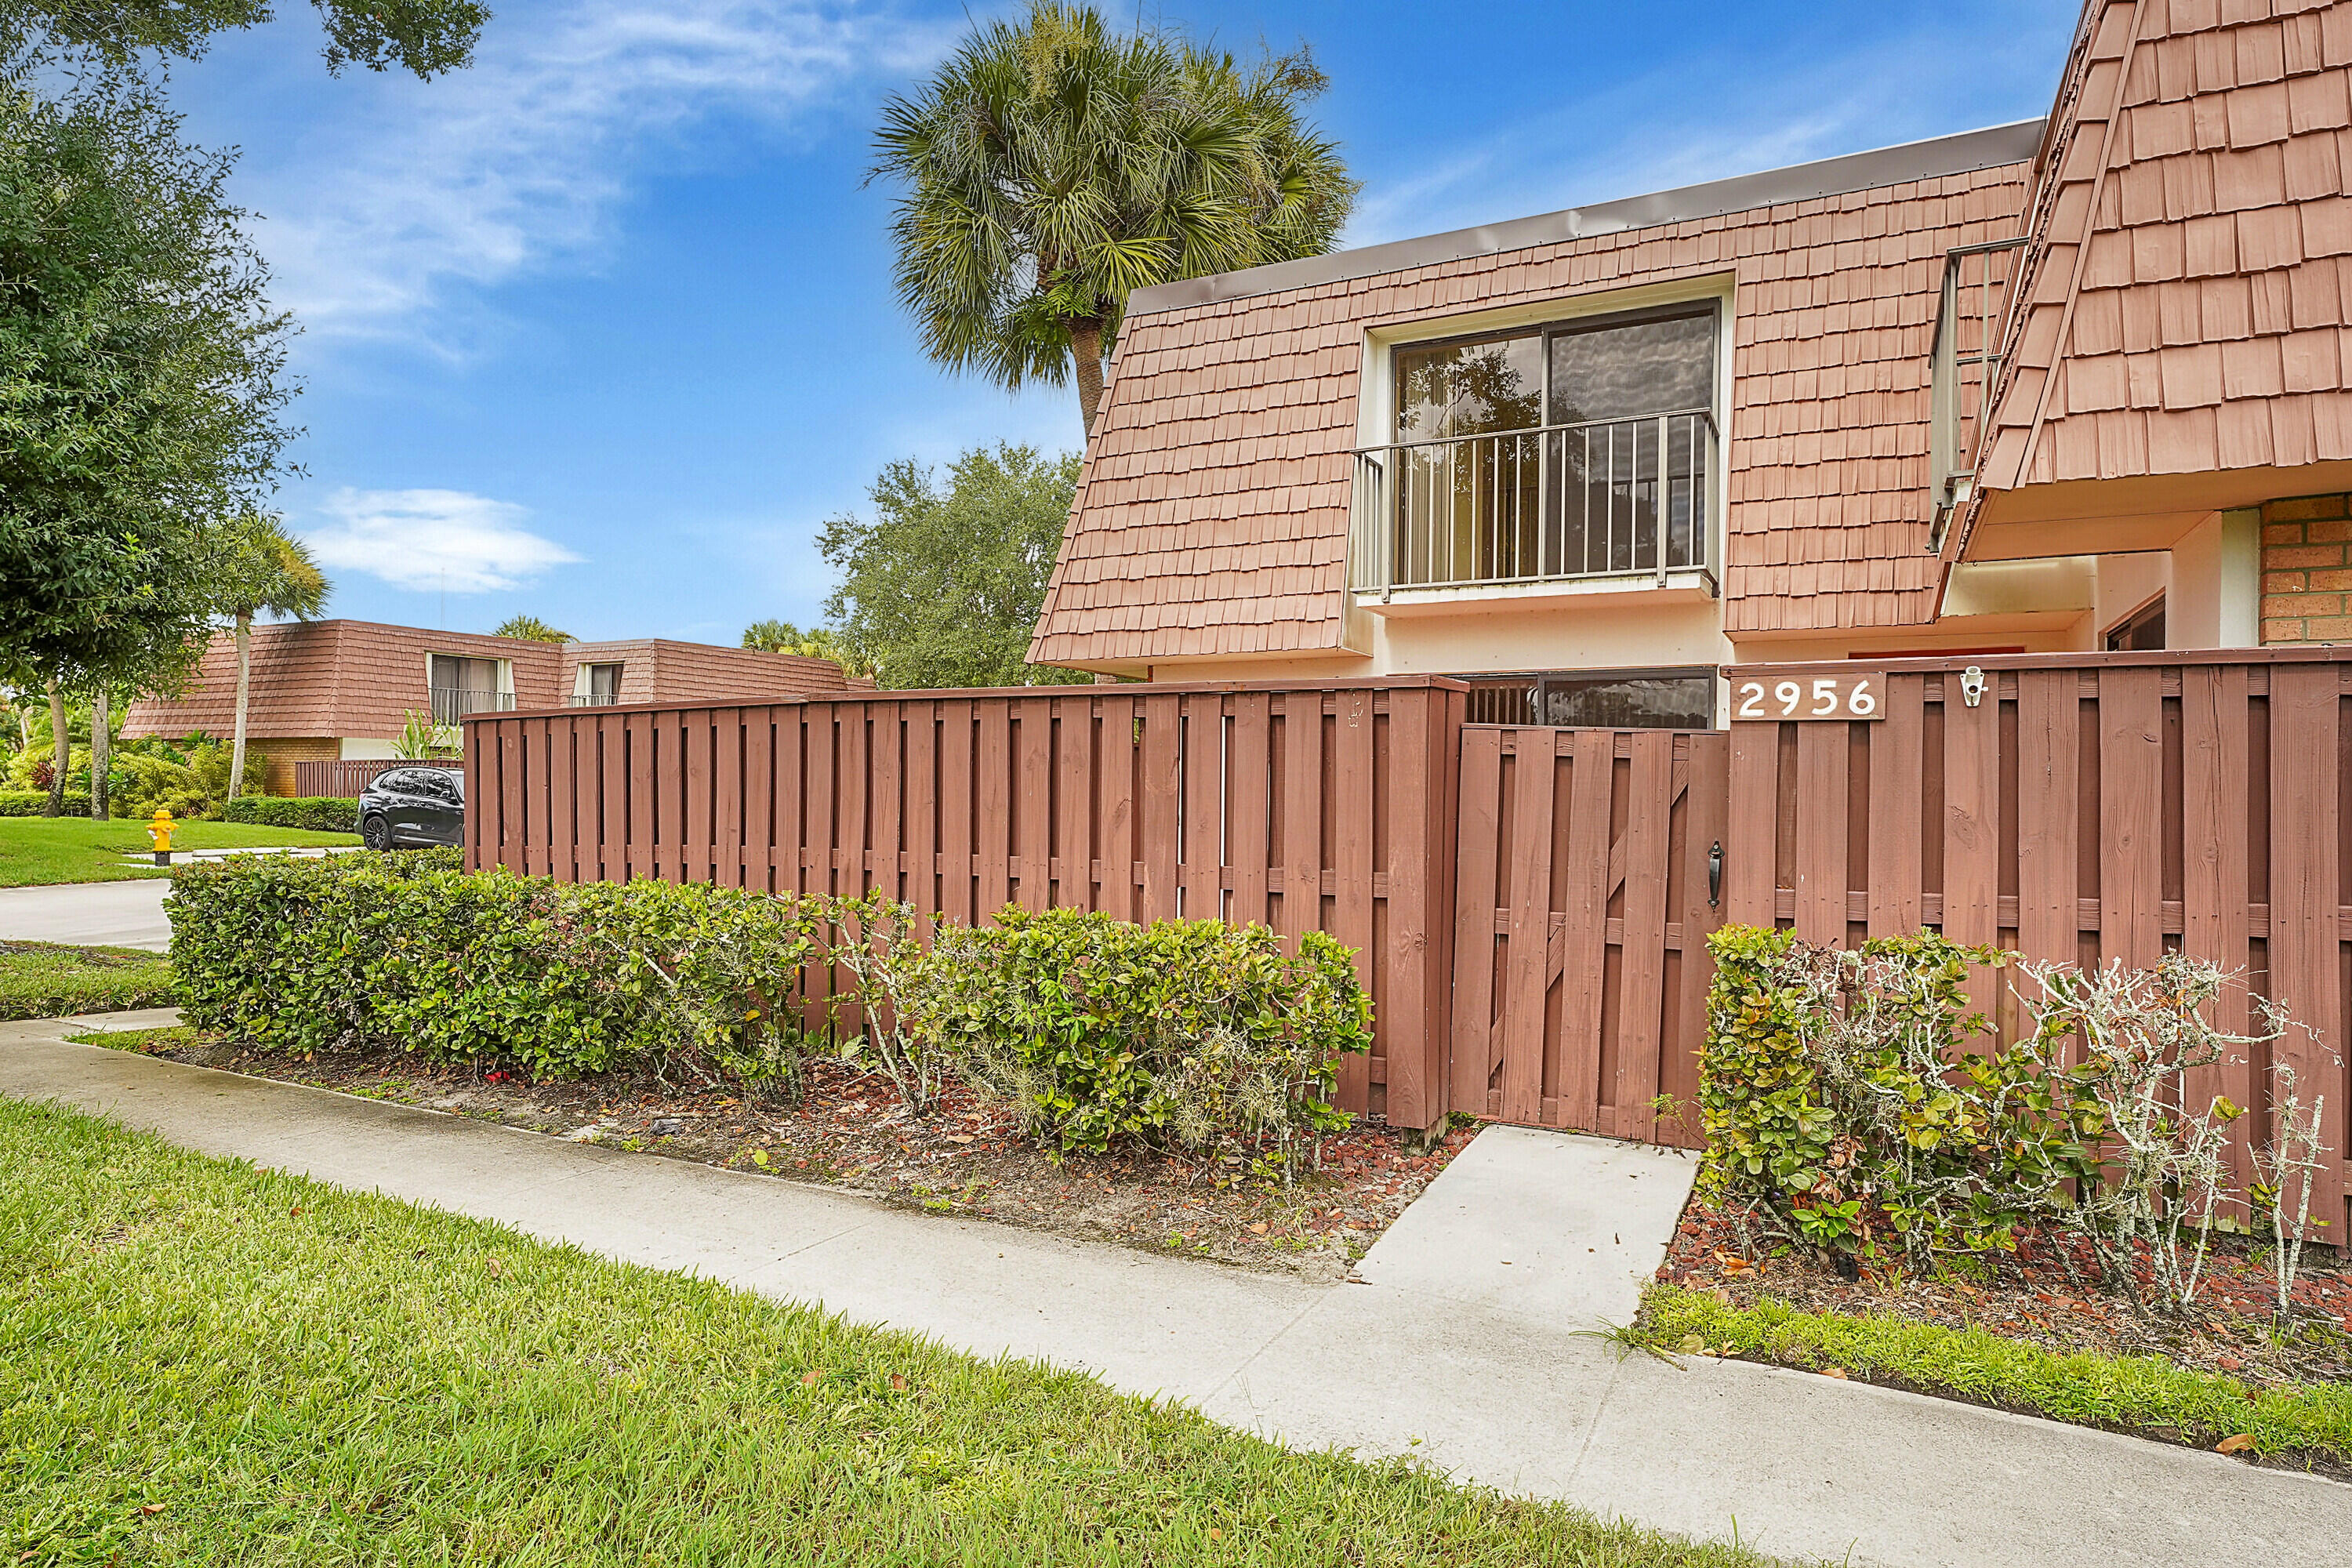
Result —
[[818, 550], [842, 574], [826, 614], [882, 686], [1089, 679], [1028, 663], [1077, 465], [1075, 451], [974, 447], [941, 489], [931, 468], [906, 458], [868, 491], [873, 517], [823, 527]]

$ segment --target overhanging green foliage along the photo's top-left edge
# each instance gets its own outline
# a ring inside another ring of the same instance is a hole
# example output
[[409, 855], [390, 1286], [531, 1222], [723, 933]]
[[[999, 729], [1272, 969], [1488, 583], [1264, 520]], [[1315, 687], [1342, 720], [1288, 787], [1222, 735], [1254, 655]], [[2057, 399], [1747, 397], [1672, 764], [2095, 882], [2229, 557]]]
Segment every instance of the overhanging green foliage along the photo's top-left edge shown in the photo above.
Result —
[[[475, 0], [310, 0], [327, 28], [327, 71], [435, 78], [473, 63], [489, 21]], [[198, 59], [221, 33], [273, 21], [268, 0], [7, 0], [0, 52], [68, 49], [125, 66], [143, 52]]]

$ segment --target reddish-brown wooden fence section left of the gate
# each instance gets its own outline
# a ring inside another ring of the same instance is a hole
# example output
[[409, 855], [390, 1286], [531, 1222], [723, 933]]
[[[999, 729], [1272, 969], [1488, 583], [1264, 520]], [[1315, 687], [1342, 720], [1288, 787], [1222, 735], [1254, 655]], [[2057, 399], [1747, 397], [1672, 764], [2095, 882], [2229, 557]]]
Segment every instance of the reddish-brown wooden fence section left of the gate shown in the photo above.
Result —
[[1465, 686], [1025, 686], [466, 719], [470, 865], [953, 922], [1223, 917], [1359, 952], [1378, 1034], [1341, 1103], [1446, 1112], [1454, 748]]

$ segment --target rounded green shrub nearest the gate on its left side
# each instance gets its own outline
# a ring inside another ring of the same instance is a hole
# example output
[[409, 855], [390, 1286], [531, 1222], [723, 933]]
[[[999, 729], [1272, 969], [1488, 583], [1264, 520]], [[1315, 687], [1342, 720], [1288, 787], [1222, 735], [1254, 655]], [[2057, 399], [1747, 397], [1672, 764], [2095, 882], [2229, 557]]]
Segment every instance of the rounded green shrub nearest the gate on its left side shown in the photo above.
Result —
[[995, 919], [941, 929], [917, 1032], [1040, 1140], [1101, 1152], [1134, 1138], [1289, 1173], [1303, 1145], [1345, 1126], [1334, 1065], [1371, 1046], [1371, 997], [1329, 936], [1287, 957], [1265, 926], [1214, 919]]

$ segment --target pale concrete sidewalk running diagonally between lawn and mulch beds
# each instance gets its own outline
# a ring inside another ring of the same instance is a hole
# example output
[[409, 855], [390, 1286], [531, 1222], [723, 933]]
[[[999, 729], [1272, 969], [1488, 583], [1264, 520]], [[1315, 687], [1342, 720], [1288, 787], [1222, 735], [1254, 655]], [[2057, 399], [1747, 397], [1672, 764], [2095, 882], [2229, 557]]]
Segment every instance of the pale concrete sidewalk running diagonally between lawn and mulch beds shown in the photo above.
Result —
[[[1621, 1359], [1557, 1305], [1583, 1288], [1569, 1284], [1573, 1258], [1536, 1258], [1531, 1291], [1503, 1288], [1494, 1253], [1531, 1239], [1479, 1239], [1468, 1215], [1449, 1220], [1446, 1178], [1390, 1234], [1435, 1199], [1435, 1234], [1491, 1269], [1376, 1248], [1362, 1269], [1371, 1284], [1308, 1286], [71, 1046], [66, 1032], [0, 1025], [0, 1093], [108, 1110], [212, 1154], [823, 1302], [976, 1354], [1080, 1366], [1289, 1443], [1421, 1453], [1470, 1481], [1665, 1530], [1736, 1528], [1785, 1556], [1922, 1568], [2333, 1568], [2352, 1535], [2352, 1488], [2333, 1481], [1835, 1378]], [[1625, 1180], [1686, 1180], [1675, 1154], [1604, 1147], [1611, 1161], [1653, 1161], [1623, 1166]], [[1468, 1166], [1482, 1182], [1529, 1171], [1482, 1164]], [[1623, 1295], [1604, 1286], [1595, 1300]]]

